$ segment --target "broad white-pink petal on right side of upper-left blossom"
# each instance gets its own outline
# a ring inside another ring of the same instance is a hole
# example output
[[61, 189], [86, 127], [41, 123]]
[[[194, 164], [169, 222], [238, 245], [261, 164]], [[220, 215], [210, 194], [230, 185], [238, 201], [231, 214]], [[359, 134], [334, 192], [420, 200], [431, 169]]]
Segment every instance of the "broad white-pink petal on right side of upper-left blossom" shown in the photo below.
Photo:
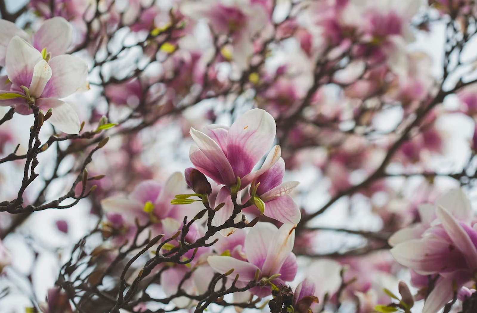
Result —
[[55, 56], [48, 64], [53, 74], [42, 97], [64, 98], [87, 85], [88, 64], [82, 59], [63, 54]]

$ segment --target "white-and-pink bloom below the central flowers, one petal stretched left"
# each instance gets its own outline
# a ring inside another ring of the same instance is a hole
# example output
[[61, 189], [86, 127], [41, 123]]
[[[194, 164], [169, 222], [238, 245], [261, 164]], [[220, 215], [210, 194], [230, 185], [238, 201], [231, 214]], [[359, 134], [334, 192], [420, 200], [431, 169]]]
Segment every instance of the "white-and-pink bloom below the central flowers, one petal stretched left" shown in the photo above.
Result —
[[[248, 283], [254, 279], [272, 278], [271, 283], [285, 284], [295, 278], [296, 256], [291, 252], [295, 239], [296, 225], [284, 224], [280, 229], [270, 223], [259, 222], [252, 227], [245, 239], [246, 261], [229, 256], [209, 256], [209, 265], [219, 273], [234, 269], [239, 274], [239, 282]], [[265, 297], [271, 294], [270, 286], [250, 289], [252, 294]]]

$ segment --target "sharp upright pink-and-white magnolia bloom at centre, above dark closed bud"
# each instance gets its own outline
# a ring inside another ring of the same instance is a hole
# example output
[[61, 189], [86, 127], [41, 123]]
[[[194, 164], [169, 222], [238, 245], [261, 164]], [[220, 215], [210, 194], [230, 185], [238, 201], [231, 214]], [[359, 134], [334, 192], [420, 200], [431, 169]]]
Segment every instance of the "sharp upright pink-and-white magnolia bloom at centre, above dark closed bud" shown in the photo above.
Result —
[[197, 146], [190, 148], [190, 160], [197, 169], [218, 184], [232, 187], [240, 177], [240, 188], [247, 187], [280, 158], [280, 146], [275, 146], [262, 167], [253, 167], [270, 149], [277, 127], [273, 117], [262, 109], [241, 115], [230, 128], [209, 125], [204, 132], [190, 128]]

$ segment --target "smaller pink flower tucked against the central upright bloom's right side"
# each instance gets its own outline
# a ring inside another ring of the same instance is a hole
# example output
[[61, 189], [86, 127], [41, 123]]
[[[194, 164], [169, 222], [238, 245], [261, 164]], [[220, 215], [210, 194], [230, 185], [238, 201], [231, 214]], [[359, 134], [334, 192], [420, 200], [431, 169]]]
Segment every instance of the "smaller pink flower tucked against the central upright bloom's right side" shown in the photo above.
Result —
[[259, 184], [256, 197], [259, 200], [256, 200], [255, 204], [261, 206], [263, 201], [262, 209], [265, 216], [282, 223], [298, 224], [301, 218], [300, 208], [289, 193], [298, 186], [299, 182], [282, 183], [284, 173], [285, 161], [280, 157], [277, 163], [256, 179], [256, 184]]

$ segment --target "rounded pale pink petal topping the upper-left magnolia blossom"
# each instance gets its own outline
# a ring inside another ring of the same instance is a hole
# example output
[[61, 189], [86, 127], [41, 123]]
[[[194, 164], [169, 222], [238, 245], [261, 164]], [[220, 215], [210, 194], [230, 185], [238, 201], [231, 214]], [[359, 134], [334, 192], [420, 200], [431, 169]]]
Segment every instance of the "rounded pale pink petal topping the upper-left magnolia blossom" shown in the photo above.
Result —
[[64, 54], [73, 43], [73, 27], [62, 17], [54, 17], [43, 22], [33, 35], [33, 46], [41, 51], [46, 48], [52, 57]]

